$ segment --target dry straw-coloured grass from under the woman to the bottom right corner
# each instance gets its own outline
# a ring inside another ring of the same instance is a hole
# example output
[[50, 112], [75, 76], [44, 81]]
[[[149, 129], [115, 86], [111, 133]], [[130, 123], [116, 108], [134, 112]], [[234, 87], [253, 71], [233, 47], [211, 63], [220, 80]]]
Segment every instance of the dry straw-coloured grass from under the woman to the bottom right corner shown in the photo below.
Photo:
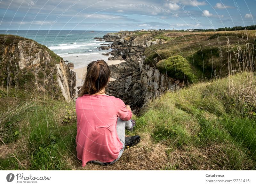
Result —
[[[228, 153], [232, 144], [214, 143], [203, 147], [190, 145], [171, 149], [161, 143], [152, 142], [149, 134], [142, 134], [138, 145], [126, 149], [116, 163], [107, 166], [87, 163], [82, 167], [81, 161], [75, 156], [67, 155], [64, 159], [67, 167], [72, 170], [230, 170], [232, 167], [229, 165], [232, 154]], [[236, 148], [235, 145], [233, 148]], [[253, 161], [244, 157], [240, 149], [236, 150], [244, 162], [238, 169], [250, 169]]]

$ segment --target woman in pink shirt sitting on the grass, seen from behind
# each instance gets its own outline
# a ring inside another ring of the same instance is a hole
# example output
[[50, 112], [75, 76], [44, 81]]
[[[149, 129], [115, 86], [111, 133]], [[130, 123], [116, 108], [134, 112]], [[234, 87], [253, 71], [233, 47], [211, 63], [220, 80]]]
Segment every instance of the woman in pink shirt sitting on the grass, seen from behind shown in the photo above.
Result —
[[110, 70], [104, 60], [93, 61], [76, 99], [77, 158], [84, 167], [87, 162], [101, 165], [113, 164], [123, 154], [126, 146], [136, 145], [140, 136], [125, 137], [125, 129], [132, 130], [129, 105], [106, 94]]

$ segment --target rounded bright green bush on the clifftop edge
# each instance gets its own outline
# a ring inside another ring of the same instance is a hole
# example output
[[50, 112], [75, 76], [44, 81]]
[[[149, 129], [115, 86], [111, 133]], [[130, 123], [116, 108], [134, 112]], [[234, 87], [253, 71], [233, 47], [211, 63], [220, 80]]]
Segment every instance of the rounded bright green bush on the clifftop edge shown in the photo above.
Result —
[[159, 61], [156, 68], [171, 78], [188, 81], [191, 83], [195, 75], [193, 74], [188, 61], [182, 56], [172, 56], [168, 59]]

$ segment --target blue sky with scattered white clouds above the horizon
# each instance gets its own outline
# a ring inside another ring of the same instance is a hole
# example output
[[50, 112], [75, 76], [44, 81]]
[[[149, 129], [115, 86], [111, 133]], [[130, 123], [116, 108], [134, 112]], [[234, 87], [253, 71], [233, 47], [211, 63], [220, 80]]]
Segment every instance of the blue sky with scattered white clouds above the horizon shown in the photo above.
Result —
[[255, 8], [255, 0], [0, 0], [0, 29], [217, 29], [255, 25]]

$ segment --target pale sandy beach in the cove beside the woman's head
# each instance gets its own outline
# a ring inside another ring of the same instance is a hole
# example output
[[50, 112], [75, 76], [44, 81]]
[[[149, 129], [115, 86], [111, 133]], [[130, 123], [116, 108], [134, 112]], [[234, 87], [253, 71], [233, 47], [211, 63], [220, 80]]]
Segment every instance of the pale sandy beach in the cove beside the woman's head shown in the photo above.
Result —
[[[108, 65], [111, 64], [119, 64], [124, 62], [124, 60], [111, 60], [111, 61], [107, 61]], [[71, 69], [72, 71], [76, 72], [76, 87], [81, 86], [82, 85], [82, 81], [84, 79], [84, 76], [86, 74], [86, 69], [87, 69], [87, 65], [84, 67], [74, 67], [74, 69]], [[114, 78], [111, 78], [110, 81], [115, 80]]]

